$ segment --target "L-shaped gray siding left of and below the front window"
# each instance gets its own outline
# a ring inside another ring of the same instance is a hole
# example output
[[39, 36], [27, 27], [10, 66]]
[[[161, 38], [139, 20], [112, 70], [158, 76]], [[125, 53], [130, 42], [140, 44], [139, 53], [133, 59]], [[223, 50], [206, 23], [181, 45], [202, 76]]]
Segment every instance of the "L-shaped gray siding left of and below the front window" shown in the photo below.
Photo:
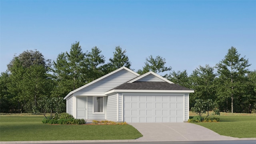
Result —
[[93, 113], [92, 109], [92, 96], [88, 96], [88, 120], [105, 120], [104, 114]]

